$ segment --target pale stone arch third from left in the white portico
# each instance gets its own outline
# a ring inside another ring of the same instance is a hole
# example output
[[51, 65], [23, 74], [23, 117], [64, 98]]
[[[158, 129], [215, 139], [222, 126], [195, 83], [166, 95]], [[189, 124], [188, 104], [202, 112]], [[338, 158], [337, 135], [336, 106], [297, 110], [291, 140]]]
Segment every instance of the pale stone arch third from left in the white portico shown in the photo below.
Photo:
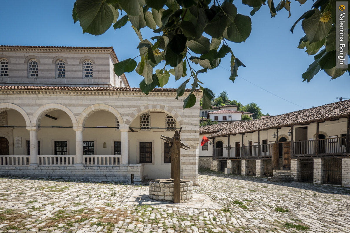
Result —
[[78, 118], [78, 127], [84, 127], [87, 118], [96, 111], [111, 112], [112, 114], [114, 114], [114, 116], [116, 116], [118, 118], [120, 128], [122, 125], [124, 125], [123, 117], [121, 117], [121, 115], [117, 111], [117, 109], [115, 109], [107, 104], [93, 104], [93, 105], [85, 108], [84, 111], [80, 114], [80, 116]]

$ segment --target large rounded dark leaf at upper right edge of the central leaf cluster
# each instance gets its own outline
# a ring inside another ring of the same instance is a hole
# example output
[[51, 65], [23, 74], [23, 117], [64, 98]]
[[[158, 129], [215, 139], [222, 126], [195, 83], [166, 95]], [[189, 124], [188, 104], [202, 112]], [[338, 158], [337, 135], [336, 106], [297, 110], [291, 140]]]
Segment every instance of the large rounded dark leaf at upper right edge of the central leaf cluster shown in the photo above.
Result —
[[252, 20], [249, 16], [237, 14], [233, 23], [227, 28], [230, 41], [241, 43], [249, 37], [252, 31]]

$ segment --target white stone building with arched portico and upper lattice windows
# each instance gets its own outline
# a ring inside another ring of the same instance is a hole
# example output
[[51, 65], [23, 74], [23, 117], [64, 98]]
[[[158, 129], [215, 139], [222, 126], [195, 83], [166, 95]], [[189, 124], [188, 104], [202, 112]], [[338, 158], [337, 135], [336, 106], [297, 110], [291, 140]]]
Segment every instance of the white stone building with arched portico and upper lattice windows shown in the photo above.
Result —
[[0, 46], [0, 174], [140, 182], [170, 177], [167, 144], [182, 127], [181, 177], [198, 184], [198, 98], [148, 95], [114, 74], [112, 47]]

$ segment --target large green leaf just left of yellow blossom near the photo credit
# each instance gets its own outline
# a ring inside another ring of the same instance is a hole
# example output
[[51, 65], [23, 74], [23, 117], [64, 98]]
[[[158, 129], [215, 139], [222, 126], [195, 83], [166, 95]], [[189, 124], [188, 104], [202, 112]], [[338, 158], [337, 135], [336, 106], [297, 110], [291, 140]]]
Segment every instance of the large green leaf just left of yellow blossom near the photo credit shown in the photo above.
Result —
[[314, 14], [301, 22], [301, 26], [310, 43], [321, 41], [328, 35], [332, 24], [330, 22], [323, 23], [320, 21], [321, 12], [317, 8]]

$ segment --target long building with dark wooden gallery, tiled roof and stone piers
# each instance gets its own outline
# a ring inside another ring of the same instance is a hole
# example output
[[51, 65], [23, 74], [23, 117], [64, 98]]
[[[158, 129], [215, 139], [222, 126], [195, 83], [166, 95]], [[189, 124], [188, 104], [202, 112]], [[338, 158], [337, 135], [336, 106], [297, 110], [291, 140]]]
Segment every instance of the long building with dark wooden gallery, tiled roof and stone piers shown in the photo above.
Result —
[[[200, 127], [199, 166], [275, 181], [350, 187], [350, 100]], [[209, 163], [210, 160], [210, 163]]]

